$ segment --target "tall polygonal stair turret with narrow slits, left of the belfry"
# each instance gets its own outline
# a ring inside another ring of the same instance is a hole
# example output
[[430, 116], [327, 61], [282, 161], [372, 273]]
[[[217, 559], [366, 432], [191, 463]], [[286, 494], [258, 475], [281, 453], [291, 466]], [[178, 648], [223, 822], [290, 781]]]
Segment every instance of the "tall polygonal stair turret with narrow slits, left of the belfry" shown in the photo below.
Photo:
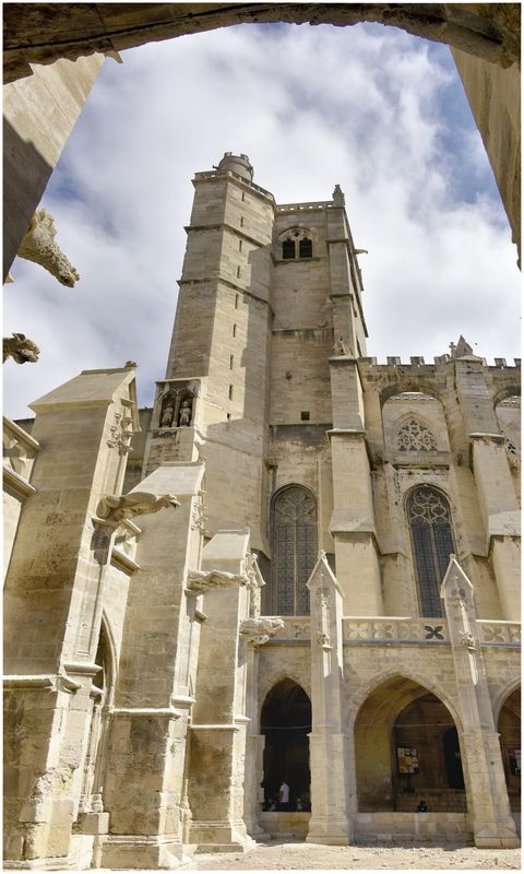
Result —
[[206, 460], [210, 531], [248, 524], [265, 544], [273, 196], [246, 155], [196, 173], [166, 378], [145, 471]]

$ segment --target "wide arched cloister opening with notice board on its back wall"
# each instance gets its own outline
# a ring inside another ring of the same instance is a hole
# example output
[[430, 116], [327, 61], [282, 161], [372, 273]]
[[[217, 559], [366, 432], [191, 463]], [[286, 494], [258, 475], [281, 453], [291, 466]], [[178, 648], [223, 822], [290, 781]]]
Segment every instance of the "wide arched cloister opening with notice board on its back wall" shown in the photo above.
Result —
[[446, 706], [395, 676], [372, 692], [355, 722], [360, 812], [466, 810], [456, 727]]

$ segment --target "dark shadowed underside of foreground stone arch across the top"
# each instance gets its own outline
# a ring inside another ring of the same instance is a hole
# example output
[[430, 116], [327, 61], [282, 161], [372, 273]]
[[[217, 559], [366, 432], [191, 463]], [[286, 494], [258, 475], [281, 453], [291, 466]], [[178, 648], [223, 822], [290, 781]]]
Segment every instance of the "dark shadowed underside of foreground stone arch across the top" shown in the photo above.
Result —
[[377, 22], [502, 68], [520, 57], [519, 3], [11, 3], [4, 11], [5, 81], [31, 74], [29, 63], [75, 60], [215, 27], [267, 22]]

